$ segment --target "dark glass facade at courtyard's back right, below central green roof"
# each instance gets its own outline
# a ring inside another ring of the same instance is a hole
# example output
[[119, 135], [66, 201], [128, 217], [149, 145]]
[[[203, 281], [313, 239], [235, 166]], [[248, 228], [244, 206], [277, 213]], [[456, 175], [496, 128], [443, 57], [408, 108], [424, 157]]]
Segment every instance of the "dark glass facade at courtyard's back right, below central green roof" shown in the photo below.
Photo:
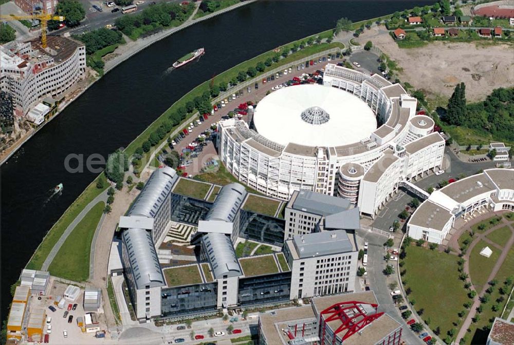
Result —
[[253, 241], [282, 246], [285, 220], [240, 210], [239, 236]]

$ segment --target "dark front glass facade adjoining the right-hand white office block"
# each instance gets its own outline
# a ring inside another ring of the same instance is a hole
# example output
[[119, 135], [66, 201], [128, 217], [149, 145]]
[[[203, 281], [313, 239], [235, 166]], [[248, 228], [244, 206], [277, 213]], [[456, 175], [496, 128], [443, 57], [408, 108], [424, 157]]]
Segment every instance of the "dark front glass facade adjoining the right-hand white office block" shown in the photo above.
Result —
[[240, 305], [275, 303], [289, 300], [291, 272], [239, 279], [237, 300]]

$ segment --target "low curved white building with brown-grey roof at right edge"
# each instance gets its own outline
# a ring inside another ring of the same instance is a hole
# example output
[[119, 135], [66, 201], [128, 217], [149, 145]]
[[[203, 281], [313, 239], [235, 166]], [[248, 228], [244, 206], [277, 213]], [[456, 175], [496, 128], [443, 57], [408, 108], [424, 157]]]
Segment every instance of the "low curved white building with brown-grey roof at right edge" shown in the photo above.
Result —
[[407, 235], [441, 244], [457, 218], [514, 211], [514, 169], [488, 169], [434, 191], [412, 214]]

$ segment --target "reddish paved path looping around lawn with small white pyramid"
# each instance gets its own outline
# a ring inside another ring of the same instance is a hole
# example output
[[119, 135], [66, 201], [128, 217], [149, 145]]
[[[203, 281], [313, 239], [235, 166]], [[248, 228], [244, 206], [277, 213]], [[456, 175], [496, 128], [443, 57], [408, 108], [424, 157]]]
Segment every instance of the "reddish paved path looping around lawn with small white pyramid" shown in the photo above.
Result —
[[[492, 271], [489, 274], [489, 277], [487, 277], [487, 281], [491, 281], [492, 279], [494, 279], [494, 277], [500, 270], [500, 267], [502, 266], [503, 261], [505, 261], [505, 258], [507, 257], [507, 255], [509, 253], [510, 247], [514, 243], [514, 227], [512, 226], [512, 224], [507, 222], [505, 220], [505, 218], [502, 218], [502, 221], [500, 222], [500, 224], [495, 225], [492, 228], [490, 228], [488, 231], [484, 232], [483, 234], [476, 236], [474, 238], [473, 242], [471, 242], [471, 244], [468, 248], [468, 251], [466, 252], [466, 255], [464, 255], [464, 259], [466, 260], [466, 262], [464, 263], [464, 272], [466, 274], [469, 275], [469, 255], [471, 254], [471, 251], [472, 251], [473, 247], [476, 245], [476, 243], [478, 243], [481, 239], [485, 238], [485, 236], [487, 236], [489, 233], [492, 233], [494, 230], [496, 230], [500, 227], [503, 227], [505, 225], [507, 225], [510, 228], [511, 235], [510, 235], [510, 239], [503, 247], [502, 254], [500, 254], [500, 257], [498, 258], [498, 260], [492, 267]], [[472, 282], [473, 280], [472, 280], [471, 276], [470, 276], [470, 279]], [[472, 285], [472, 287], [473, 287], [473, 290], [475, 290], [474, 285]], [[482, 287], [482, 291], [480, 293], [477, 291], [477, 294], [473, 300], [473, 305], [471, 306], [471, 310], [470, 310], [468, 316], [466, 317], [466, 319], [464, 320], [464, 322], [462, 323], [461, 329], [458, 331], [455, 343], [458, 343], [461, 340], [461, 338], [466, 335], [466, 330], [471, 325], [472, 318], [476, 314], [476, 308], [478, 308], [478, 306], [480, 305], [480, 296], [483, 296], [485, 294], [485, 291], [488, 289], [488, 287], [489, 287], [489, 285], [486, 283], [486, 284], [484, 284], [484, 287]]]

